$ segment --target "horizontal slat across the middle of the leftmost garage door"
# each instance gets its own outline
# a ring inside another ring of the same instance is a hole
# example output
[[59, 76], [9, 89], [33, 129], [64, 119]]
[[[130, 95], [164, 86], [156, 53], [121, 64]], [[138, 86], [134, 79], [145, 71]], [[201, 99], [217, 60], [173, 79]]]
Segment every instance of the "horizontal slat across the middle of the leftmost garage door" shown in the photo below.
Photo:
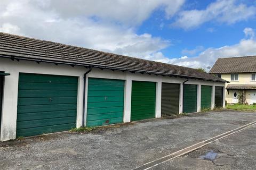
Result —
[[[18, 98], [18, 103], [22, 105], [44, 105], [49, 104], [49, 97], [37, 97], [37, 98]], [[51, 97], [51, 104], [76, 104], [76, 97]]]

